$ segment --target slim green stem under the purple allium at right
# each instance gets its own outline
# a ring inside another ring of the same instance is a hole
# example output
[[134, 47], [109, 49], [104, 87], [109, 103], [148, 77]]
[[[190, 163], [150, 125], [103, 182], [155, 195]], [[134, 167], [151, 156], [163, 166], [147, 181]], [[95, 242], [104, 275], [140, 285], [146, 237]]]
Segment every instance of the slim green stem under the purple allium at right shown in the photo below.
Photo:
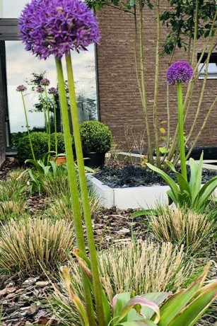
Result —
[[183, 126], [183, 106], [182, 106], [182, 83], [177, 82], [177, 93], [178, 93], [178, 125], [179, 125], [179, 139], [180, 139], [180, 161], [182, 176], [187, 180], [187, 168], [185, 163], [185, 152], [184, 152], [184, 126]]

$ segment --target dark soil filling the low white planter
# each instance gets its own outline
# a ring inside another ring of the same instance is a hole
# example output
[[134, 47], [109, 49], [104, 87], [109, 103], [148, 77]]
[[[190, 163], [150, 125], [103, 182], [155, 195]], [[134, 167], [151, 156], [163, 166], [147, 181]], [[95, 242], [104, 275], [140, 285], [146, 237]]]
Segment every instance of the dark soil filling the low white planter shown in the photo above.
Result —
[[[189, 178], [189, 167], [187, 167], [187, 173]], [[168, 170], [167, 174], [170, 175], [173, 180], [176, 180], [175, 173], [171, 170]], [[207, 182], [216, 175], [217, 171], [203, 170], [202, 183]], [[166, 185], [166, 182], [157, 173], [131, 164], [124, 166], [124, 168], [104, 166], [94, 174], [94, 177], [112, 188]]]

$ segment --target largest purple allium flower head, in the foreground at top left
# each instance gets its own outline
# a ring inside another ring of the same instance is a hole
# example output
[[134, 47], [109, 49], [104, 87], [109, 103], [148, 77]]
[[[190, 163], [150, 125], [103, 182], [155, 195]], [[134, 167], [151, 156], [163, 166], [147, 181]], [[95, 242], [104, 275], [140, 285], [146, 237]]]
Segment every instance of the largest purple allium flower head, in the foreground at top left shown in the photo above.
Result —
[[80, 0], [32, 0], [19, 18], [25, 50], [40, 59], [61, 59], [71, 50], [86, 50], [100, 34], [93, 11]]

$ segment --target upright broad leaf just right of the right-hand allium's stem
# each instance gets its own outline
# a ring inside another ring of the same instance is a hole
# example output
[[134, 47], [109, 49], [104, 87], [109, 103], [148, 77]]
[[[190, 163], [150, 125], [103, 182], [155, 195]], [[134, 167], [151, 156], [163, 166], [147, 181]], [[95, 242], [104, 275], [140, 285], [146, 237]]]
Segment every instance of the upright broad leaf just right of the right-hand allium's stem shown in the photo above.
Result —
[[194, 202], [194, 199], [197, 197], [197, 194], [201, 189], [203, 156], [204, 153], [202, 152], [199, 160], [199, 165], [197, 165], [193, 158], [189, 159], [189, 165], [191, 168], [189, 187], [192, 192], [192, 202]]

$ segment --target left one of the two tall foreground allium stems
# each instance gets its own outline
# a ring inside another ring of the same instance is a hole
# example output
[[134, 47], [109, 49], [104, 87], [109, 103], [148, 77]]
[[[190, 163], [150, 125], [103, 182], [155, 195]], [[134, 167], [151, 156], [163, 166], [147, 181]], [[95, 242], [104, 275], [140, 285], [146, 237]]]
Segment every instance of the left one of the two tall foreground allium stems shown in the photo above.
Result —
[[[76, 241], [77, 241], [78, 249], [81, 249], [85, 253], [86, 246], [85, 246], [85, 240], [83, 236], [81, 206], [79, 203], [76, 170], [75, 170], [74, 157], [73, 157], [73, 151], [71, 146], [71, 133], [69, 128], [69, 115], [68, 115], [68, 105], [66, 102], [64, 74], [61, 65], [61, 60], [57, 59], [56, 57], [55, 62], [57, 67], [59, 101], [61, 105], [61, 116], [62, 116], [62, 124], [64, 129], [64, 141], [65, 141], [66, 158], [67, 158], [67, 165], [68, 165], [69, 188], [71, 194], [72, 212], [74, 216], [74, 228], [76, 232]], [[92, 297], [90, 293], [90, 286], [88, 284], [88, 280], [86, 279], [86, 275], [84, 274], [83, 270], [81, 270], [81, 275], [83, 281], [83, 292], [84, 292], [84, 298], [86, 302], [88, 321], [91, 326], [92, 325], [95, 326], [95, 315], [93, 310]]]

